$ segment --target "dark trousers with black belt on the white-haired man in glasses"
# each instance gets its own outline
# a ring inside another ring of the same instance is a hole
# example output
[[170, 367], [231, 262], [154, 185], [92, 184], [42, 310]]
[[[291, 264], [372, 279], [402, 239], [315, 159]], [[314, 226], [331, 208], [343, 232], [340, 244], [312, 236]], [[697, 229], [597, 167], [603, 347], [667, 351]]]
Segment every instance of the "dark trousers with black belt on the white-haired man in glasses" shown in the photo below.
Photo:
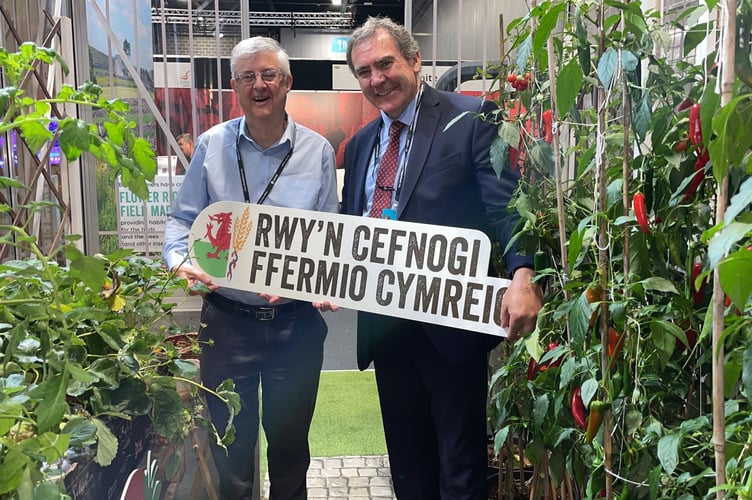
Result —
[[[305, 500], [310, 464], [308, 430], [316, 404], [324, 353], [326, 323], [308, 303], [272, 320], [257, 320], [204, 301], [201, 313], [202, 382], [215, 389], [232, 378], [240, 395], [235, 440], [225, 450], [212, 446], [219, 474], [220, 498], [251, 499], [254, 450], [259, 429], [259, 383], [262, 424], [268, 441], [270, 500]], [[207, 395], [209, 414], [222, 432], [227, 407]], [[264, 450], [261, 450], [263, 453]]]

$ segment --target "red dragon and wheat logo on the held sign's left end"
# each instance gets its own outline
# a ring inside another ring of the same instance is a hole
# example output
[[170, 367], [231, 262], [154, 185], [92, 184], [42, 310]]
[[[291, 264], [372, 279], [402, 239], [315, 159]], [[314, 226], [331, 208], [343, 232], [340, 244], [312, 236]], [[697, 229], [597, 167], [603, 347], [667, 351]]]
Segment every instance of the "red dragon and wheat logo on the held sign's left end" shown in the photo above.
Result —
[[207, 274], [215, 278], [232, 279], [238, 261], [238, 252], [243, 249], [251, 234], [250, 209], [233, 221], [232, 212], [209, 214], [206, 232], [195, 242], [195, 259]]

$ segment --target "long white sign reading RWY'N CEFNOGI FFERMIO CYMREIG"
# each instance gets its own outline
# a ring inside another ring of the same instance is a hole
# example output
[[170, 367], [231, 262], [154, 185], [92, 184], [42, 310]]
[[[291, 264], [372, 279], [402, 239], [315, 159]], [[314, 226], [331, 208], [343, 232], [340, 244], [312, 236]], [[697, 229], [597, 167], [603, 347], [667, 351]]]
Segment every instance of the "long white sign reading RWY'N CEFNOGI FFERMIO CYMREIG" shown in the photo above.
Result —
[[506, 336], [510, 282], [486, 275], [480, 231], [228, 201], [198, 215], [189, 248], [222, 287]]

